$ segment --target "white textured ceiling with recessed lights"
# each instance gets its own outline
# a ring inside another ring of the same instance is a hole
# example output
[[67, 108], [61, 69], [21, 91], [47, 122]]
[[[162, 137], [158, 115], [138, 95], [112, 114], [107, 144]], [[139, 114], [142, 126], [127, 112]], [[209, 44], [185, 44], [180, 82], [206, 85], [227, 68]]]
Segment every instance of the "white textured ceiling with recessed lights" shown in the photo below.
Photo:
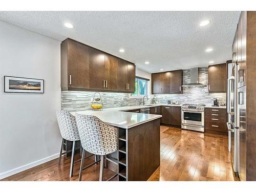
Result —
[[[132, 61], [144, 71], [159, 72], [231, 59], [239, 15], [239, 11], [0, 11], [0, 20], [60, 41], [70, 37]], [[200, 27], [205, 19], [210, 24]], [[66, 22], [74, 29], [64, 27]], [[214, 51], [206, 53], [208, 47]]]

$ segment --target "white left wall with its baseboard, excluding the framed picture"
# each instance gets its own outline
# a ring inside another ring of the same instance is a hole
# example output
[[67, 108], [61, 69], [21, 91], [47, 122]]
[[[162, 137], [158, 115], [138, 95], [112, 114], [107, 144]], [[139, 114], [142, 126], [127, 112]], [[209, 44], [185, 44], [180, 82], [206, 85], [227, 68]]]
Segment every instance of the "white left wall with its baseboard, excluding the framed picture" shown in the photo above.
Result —
[[[45, 93], [4, 93], [4, 75], [45, 79]], [[0, 179], [57, 158], [60, 41], [0, 21]]]

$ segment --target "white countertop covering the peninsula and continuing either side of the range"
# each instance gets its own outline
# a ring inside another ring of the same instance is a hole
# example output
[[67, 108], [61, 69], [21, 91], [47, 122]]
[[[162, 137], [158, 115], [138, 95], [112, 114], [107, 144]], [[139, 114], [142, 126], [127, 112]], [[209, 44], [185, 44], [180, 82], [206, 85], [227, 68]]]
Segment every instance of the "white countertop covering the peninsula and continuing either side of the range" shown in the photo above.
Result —
[[[134, 105], [134, 106], [120, 106], [117, 108], [106, 108], [101, 111], [77, 111], [71, 112], [72, 115], [93, 115], [98, 117], [103, 122], [110, 124], [112, 126], [118, 126], [124, 129], [129, 129], [131, 127], [143, 124], [158, 118], [161, 118], [162, 115], [153, 115], [153, 114], [143, 114], [143, 113], [127, 113], [126, 111], [152, 108], [154, 106], [181, 106], [182, 104], [148, 104], [148, 105]], [[211, 106], [206, 105], [205, 108], [220, 108], [226, 109], [226, 106]]]

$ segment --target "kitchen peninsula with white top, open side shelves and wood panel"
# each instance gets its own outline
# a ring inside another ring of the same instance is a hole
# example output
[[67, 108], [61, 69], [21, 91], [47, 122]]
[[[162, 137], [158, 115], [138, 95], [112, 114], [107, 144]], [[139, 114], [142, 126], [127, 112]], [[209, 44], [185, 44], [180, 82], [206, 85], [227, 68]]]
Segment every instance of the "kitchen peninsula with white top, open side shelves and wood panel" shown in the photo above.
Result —
[[129, 113], [115, 108], [71, 114], [93, 115], [118, 128], [118, 151], [108, 156], [111, 162], [107, 166], [118, 173], [119, 181], [146, 181], [160, 166], [162, 115]]

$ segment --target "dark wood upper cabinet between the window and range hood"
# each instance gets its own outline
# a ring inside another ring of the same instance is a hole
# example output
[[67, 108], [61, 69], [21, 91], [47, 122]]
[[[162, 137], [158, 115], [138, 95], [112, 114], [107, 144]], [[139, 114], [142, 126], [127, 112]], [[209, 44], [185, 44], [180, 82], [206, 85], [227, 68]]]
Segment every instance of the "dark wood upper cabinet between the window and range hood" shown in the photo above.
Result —
[[153, 73], [152, 94], [170, 94], [182, 93], [183, 71], [168, 71], [162, 73]]

